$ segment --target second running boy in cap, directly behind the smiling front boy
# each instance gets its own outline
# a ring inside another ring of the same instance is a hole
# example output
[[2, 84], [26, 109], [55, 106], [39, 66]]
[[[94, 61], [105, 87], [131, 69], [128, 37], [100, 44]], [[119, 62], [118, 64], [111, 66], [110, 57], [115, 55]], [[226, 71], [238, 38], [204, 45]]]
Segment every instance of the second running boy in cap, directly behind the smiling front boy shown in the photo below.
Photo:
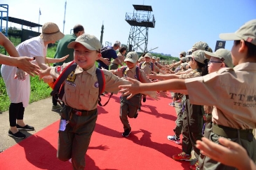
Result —
[[[124, 60], [126, 66], [112, 70], [112, 73], [116, 74], [116, 76], [123, 77], [124, 79], [128, 77], [140, 80], [142, 83], [150, 83], [150, 80], [147, 78], [144, 71], [136, 66], [137, 60], [138, 56], [136, 52], [128, 52], [126, 59]], [[124, 132], [122, 135], [124, 137], [128, 137], [131, 132], [128, 118], [137, 118], [137, 109], [140, 107], [140, 98], [140, 94], [136, 94], [131, 99], [127, 99], [126, 96], [121, 97], [120, 120], [123, 124]]]

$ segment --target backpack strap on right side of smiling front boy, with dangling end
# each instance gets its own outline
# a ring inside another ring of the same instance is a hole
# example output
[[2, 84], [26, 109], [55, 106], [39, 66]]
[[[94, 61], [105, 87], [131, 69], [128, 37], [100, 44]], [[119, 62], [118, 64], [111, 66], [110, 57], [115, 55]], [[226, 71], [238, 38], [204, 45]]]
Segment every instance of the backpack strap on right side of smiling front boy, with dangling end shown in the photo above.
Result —
[[97, 99], [97, 104], [99, 104], [100, 106], [106, 106], [109, 103], [109, 99], [112, 97], [113, 93], [110, 94], [109, 99], [107, 100], [107, 102], [102, 105], [101, 104], [101, 98], [100, 98], [100, 94], [102, 94], [102, 92], [104, 92], [105, 90], [105, 76], [104, 76], [104, 71], [102, 71], [99, 68], [96, 68], [96, 76], [97, 76], [97, 81], [99, 83], [99, 96]]

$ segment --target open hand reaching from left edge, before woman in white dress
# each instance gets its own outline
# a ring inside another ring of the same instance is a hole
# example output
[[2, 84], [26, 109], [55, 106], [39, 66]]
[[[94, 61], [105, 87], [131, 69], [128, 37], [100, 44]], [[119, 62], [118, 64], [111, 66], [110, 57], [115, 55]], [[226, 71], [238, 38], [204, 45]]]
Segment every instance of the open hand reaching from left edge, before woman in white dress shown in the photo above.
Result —
[[33, 58], [31, 57], [17, 57], [17, 64], [16, 66], [19, 69], [22, 69], [30, 76], [39, 75], [40, 68], [36, 66], [36, 64], [32, 64]]

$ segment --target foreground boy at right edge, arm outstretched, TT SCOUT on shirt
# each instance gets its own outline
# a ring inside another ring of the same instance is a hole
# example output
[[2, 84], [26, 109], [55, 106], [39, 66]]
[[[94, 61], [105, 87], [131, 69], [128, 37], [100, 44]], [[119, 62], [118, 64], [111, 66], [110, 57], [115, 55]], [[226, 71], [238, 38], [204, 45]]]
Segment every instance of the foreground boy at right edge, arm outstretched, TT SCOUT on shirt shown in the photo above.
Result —
[[[252, 131], [256, 129], [256, 20], [246, 22], [235, 33], [220, 34], [220, 38], [234, 41], [231, 49], [234, 69], [223, 68], [198, 78], [158, 83], [141, 84], [129, 79], [134, 84], [121, 85], [124, 88], [121, 92], [132, 96], [144, 90], [182, 90], [188, 92], [192, 104], [215, 106], [210, 141], [218, 143], [220, 136], [234, 141], [255, 162], [256, 141]], [[206, 157], [203, 166], [203, 169], [236, 169], [210, 157]]]

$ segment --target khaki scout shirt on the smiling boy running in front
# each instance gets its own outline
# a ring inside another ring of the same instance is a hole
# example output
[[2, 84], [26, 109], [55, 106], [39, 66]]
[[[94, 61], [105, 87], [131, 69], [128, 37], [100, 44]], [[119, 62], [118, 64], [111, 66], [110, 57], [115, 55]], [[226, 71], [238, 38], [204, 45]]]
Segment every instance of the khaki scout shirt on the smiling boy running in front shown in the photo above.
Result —
[[[68, 65], [55, 66], [50, 70], [50, 76], [58, 78], [62, 70]], [[105, 75], [105, 92], [119, 91], [119, 85], [130, 84], [128, 80], [124, 80], [114, 76], [113, 73], [107, 70], [104, 71]], [[63, 101], [66, 105], [77, 110], [91, 111], [97, 108], [97, 99], [99, 95], [99, 85], [96, 76], [96, 67], [83, 71], [79, 66], [76, 70], [69, 74], [65, 80], [65, 94]]]

